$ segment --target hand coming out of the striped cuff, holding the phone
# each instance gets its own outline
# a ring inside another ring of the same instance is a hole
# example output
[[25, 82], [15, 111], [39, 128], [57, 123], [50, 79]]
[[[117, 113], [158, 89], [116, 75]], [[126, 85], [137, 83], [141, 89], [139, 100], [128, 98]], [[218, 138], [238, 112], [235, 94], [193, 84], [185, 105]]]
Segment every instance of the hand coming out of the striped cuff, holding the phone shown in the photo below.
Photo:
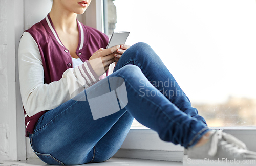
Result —
[[116, 45], [108, 49], [100, 48], [95, 53], [93, 53], [88, 62], [91, 64], [97, 76], [103, 75], [106, 70], [109, 69], [109, 65], [115, 62], [114, 54], [117, 54], [117, 50], [119, 49], [120, 45]]

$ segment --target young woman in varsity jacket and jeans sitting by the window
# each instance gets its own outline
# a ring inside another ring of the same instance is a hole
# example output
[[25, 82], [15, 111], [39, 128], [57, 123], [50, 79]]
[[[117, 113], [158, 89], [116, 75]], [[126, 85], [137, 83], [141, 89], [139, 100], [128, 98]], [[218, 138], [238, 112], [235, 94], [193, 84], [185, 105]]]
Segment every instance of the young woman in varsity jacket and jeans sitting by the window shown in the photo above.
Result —
[[[42, 161], [54, 165], [106, 161], [121, 147], [134, 118], [162, 140], [188, 148], [188, 157], [245, 157], [248, 151], [241, 141], [207, 127], [149, 45], [104, 49], [108, 37], [76, 19], [90, 3], [54, 0], [45, 19], [20, 40], [26, 136]], [[120, 84], [111, 89], [117, 78]], [[125, 90], [120, 93], [122, 80]], [[170, 95], [173, 91], [179, 93]], [[100, 118], [94, 118], [92, 110]]]

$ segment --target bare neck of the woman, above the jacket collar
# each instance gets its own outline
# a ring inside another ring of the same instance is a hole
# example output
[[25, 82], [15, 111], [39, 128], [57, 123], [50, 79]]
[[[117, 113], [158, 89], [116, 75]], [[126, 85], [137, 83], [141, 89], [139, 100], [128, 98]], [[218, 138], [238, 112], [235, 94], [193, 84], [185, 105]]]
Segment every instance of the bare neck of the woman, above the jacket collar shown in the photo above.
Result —
[[76, 13], [63, 10], [62, 8], [53, 4], [50, 11], [50, 17], [56, 31], [69, 33], [77, 29]]

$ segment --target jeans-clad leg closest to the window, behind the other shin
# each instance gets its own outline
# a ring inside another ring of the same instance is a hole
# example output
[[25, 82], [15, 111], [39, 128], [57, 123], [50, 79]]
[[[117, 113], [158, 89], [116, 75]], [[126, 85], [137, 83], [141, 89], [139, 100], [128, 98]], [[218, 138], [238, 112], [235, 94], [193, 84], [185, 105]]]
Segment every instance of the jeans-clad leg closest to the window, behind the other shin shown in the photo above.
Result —
[[[170, 102], [175, 104], [181, 111], [206, 124], [204, 118], [198, 115], [198, 110], [191, 106], [188, 97], [182, 91], [173, 75], [148, 44], [137, 43], [127, 49], [119, 59], [114, 72], [127, 64], [138, 66], [148, 81], [164, 94]], [[147, 88], [147, 84], [140, 83], [139, 85]]]

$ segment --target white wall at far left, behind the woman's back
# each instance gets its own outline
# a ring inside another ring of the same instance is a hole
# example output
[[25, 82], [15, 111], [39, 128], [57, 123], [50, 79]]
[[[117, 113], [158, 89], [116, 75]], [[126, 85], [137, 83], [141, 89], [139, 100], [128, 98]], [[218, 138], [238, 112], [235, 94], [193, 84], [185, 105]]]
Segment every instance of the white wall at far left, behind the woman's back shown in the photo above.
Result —
[[[17, 41], [23, 29], [23, 1], [0, 1], [0, 160], [25, 158], [25, 138], [22, 112], [16, 112], [20, 100], [16, 100]], [[19, 90], [18, 90], [19, 91]]]

